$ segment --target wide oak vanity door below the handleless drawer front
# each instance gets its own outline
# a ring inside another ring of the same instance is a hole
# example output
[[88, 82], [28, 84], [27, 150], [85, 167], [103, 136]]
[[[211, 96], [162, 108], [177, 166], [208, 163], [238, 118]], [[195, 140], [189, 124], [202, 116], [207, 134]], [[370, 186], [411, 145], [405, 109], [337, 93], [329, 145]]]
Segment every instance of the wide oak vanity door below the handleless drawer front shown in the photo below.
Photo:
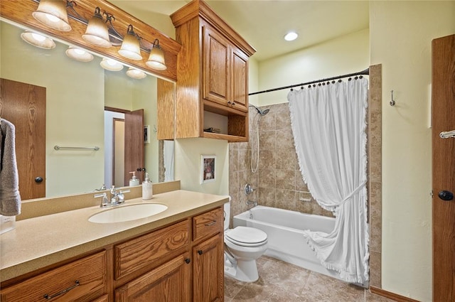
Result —
[[191, 264], [188, 254], [171, 261], [115, 290], [116, 302], [190, 302]]

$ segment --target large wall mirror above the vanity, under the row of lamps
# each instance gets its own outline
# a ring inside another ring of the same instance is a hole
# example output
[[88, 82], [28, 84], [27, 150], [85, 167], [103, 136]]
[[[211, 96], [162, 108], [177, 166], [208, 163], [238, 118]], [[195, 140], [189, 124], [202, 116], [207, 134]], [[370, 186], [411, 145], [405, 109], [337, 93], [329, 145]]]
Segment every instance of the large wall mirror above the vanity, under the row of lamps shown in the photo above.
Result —
[[[118, 72], [105, 70], [100, 66], [102, 58], [97, 55], [90, 62], [73, 60], [65, 54], [68, 45], [57, 41], [55, 48], [36, 48], [21, 39], [23, 28], [5, 20], [1, 21], [0, 30], [1, 78], [31, 85], [16, 88], [19, 99], [39, 95], [33, 90], [35, 86], [45, 88], [45, 127], [41, 131], [33, 126], [32, 131], [33, 136], [36, 136], [36, 144], [41, 142], [45, 145], [45, 154], [41, 159], [37, 153], [33, 153], [25, 163], [18, 163], [19, 174], [24, 169], [33, 170], [31, 166], [45, 161], [45, 179], [42, 182], [45, 185], [45, 197], [93, 192], [103, 184], [107, 188], [113, 184], [123, 186], [122, 180], [115, 180], [116, 175], [122, 179], [119, 175], [129, 172], [120, 172], [125, 165], [122, 160], [119, 161], [125, 157], [121, 147], [123, 144], [124, 149], [143, 148], [144, 166], [137, 168], [145, 168], [155, 183], [164, 181], [164, 158], [172, 158], [173, 150], [171, 141], [165, 144], [156, 140], [156, 77], [147, 74], [142, 79], [134, 79], [127, 76], [127, 66]], [[28, 96], [25, 92], [28, 92]], [[1, 102], [4, 107], [9, 102], [4, 98], [4, 92]], [[10, 102], [9, 107], [14, 108], [16, 104]], [[127, 120], [126, 114], [138, 110], [143, 110], [143, 139], [129, 141], [129, 136], [122, 133], [122, 123]], [[31, 114], [20, 123], [35, 122], [30, 120], [30, 116], [38, 117]], [[8, 119], [5, 113], [1, 117]], [[16, 134], [21, 135], [24, 134]], [[122, 139], [125, 141], [122, 142]], [[55, 146], [61, 148], [56, 150]], [[88, 149], [79, 149], [85, 147]], [[98, 147], [99, 150], [92, 147]], [[16, 139], [17, 153], [34, 148], [24, 146]], [[164, 156], [164, 152], [168, 154]], [[166, 180], [173, 178], [169, 169]], [[144, 173], [136, 173], [143, 180]], [[21, 175], [19, 177], [21, 195], [27, 196], [28, 192], [22, 190], [24, 181], [21, 183]], [[40, 177], [35, 175], [28, 181], [39, 183]]]

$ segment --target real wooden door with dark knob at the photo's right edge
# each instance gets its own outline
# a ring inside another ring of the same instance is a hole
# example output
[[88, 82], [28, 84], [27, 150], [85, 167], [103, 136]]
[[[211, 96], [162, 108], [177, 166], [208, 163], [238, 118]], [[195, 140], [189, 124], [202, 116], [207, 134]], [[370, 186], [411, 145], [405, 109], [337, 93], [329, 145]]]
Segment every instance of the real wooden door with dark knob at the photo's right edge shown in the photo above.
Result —
[[[433, 301], [455, 302], [455, 35], [432, 41]], [[451, 196], [452, 195], [452, 196]]]

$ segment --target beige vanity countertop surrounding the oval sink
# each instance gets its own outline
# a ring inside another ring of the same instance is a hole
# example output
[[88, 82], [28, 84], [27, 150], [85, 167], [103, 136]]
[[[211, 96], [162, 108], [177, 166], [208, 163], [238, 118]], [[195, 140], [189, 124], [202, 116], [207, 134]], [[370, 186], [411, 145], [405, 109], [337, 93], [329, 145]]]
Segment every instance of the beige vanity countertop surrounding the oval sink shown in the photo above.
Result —
[[88, 218], [97, 212], [112, 209], [100, 206], [20, 220], [16, 222], [15, 230], [0, 235], [0, 281], [137, 236], [227, 202], [227, 196], [174, 190], [156, 194], [151, 200], [127, 200], [124, 205], [161, 203], [168, 206], [164, 212], [139, 220], [105, 224], [89, 222]]

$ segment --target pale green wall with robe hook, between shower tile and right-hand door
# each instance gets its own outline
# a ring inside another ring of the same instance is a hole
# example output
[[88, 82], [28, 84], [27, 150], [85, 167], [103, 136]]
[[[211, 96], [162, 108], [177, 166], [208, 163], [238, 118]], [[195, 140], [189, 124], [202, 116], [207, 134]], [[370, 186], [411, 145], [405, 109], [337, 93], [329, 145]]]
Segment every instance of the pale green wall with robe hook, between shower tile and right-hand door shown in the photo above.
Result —
[[454, 33], [455, 1], [370, 3], [371, 63], [382, 64], [382, 288], [418, 301], [432, 301], [432, 39]]

